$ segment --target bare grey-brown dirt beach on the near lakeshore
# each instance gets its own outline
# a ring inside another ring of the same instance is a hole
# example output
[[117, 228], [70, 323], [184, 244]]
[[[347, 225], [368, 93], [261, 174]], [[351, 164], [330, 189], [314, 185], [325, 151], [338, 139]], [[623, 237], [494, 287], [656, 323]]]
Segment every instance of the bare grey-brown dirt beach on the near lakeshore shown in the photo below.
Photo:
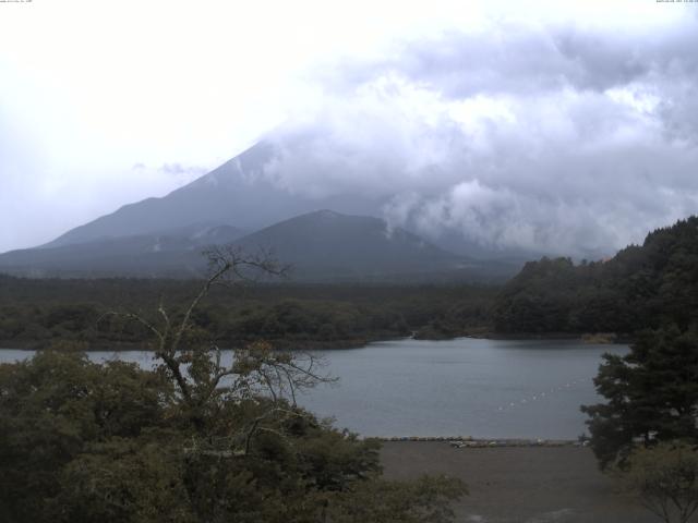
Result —
[[652, 523], [660, 521], [581, 447], [455, 449], [442, 441], [388, 441], [389, 478], [460, 477], [469, 496], [454, 508], [468, 523]]

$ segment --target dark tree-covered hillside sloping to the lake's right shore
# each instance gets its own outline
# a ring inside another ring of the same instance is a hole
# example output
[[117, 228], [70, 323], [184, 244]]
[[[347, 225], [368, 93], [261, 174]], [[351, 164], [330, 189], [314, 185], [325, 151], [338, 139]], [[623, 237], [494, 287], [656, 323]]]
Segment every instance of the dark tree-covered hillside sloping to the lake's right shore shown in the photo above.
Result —
[[648, 234], [607, 262], [526, 264], [493, 309], [500, 332], [625, 332], [698, 323], [698, 217]]

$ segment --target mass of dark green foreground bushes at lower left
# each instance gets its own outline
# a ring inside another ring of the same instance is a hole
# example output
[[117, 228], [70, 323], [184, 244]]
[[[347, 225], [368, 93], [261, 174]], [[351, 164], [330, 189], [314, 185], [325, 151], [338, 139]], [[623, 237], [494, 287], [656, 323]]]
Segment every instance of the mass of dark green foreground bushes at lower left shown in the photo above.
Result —
[[243, 356], [216, 393], [210, 374], [188, 378], [189, 397], [166, 373], [76, 352], [0, 365], [0, 520], [452, 521], [459, 482], [382, 479], [376, 441], [251, 393], [291, 356]]

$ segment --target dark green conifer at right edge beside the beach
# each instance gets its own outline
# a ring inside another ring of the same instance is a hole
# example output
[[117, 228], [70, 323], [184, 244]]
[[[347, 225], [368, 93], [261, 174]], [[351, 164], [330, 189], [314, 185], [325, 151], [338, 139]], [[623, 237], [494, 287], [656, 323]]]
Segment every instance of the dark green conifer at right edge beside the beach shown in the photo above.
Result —
[[634, 445], [698, 442], [698, 333], [676, 326], [642, 331], [625, 356], [606, 354], [594, 379], [607, 403], [582, 406], [602, 467]]

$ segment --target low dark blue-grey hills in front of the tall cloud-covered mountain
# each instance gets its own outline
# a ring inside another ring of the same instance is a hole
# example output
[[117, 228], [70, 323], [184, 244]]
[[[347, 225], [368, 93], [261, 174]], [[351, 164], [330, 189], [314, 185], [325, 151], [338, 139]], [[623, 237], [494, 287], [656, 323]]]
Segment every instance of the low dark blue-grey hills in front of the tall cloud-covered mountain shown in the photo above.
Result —
[[[242, 238], [241, 238], [242, 236]], [[270, 251], [299, 281], [502, 280], [506, 263], [469, 260], [385, 221], [330, 210], [301, 215], [243, 236], [230, 226], [173, 229], [160, 234], [100, 238], [0, 255], [0, 270], [22, 276], [201, 277], [206, 246]]]

